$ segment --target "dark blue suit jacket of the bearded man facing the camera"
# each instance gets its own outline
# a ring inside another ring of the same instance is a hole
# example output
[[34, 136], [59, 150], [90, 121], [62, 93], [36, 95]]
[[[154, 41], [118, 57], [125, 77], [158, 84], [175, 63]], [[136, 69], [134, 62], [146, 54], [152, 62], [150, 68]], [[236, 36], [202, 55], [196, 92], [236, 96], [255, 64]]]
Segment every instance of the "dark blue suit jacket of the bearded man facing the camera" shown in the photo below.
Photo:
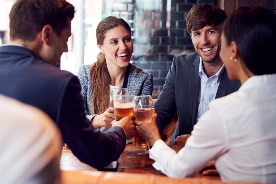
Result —
[[[178, 112], [178, 124], [170, 144], [173, 144], [177, 136], [190, 134], [197, 122], [200, 87], [199, 61], [200, 56], [197, 53], [174, 57], [163, 89], [155, 103], [160, 133], [172, 121], [175, 112]], [[227, 71], [224, 70], [215, 98], [235, 92], [240, 86], [240, 81], [230, 81]]]

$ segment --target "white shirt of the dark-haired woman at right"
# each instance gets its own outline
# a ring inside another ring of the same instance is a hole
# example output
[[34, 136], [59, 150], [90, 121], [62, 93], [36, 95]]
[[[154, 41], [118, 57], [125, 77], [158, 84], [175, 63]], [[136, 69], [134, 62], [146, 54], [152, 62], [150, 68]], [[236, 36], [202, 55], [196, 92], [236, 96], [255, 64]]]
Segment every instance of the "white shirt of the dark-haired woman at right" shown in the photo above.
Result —
[[169, 177], [195, 176], [215, 159], [222, 181], [275, 183], [276, 74], [253, 76], [214, 100], [178, 154], [158, 140], [150, 158]]

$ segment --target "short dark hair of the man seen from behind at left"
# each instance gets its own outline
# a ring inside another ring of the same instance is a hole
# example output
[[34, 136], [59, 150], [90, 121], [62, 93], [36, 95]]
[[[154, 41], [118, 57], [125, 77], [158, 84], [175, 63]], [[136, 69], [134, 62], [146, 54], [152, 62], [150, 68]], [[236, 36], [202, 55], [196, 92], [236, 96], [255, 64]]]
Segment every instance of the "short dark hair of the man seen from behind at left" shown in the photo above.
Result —
[[9, 14], [10, 38], [33, 41], [47, 24], [60, 36], [74, 14], [74, 6], [65, 0], [17, 0]]

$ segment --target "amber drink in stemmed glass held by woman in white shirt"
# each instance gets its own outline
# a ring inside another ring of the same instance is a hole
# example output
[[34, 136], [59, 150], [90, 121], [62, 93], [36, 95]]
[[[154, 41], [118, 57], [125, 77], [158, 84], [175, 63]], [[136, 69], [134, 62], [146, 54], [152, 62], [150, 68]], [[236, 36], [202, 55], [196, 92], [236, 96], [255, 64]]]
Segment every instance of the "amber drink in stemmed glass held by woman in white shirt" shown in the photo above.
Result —
[[[144, 121], [147, 123], [151, 122], [152, 117], [154, 116], [154, 108], [149, 107], [149, 108], [137, 108], [134, 110], [134, 117], [138, 121]], [[135, 134], [135, 143], [138, 146], [146, 146], [146, 140], [143, 139], [139, 134]]]

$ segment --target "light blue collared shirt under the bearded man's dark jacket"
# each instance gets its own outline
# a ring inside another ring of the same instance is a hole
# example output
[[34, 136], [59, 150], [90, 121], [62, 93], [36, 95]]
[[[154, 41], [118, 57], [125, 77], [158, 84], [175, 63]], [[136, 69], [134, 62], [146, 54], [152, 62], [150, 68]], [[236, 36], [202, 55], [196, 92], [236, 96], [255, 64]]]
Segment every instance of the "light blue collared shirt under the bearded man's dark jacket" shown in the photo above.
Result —
[[207, 77], [202, 66], [202, 58], [199, 61], [199, 77], [200, 77], [200, 93], [198, 97], [198, 113], [197, 118], [200, 118], [209, 109], [210, 102], [215, 100], [220, 79], [224, 71], [224, 64], [220, 70], [211, 77]]

